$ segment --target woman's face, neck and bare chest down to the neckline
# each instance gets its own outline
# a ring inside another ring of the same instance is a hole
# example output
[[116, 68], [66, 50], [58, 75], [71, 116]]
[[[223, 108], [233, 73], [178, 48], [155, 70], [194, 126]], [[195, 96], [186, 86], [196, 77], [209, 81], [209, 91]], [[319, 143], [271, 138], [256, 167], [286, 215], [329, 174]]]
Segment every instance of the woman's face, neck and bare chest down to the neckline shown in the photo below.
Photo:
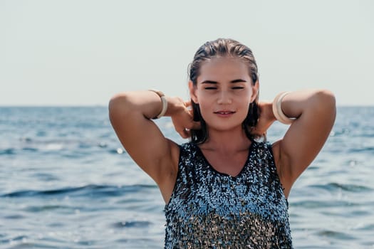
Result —
[[244, 166], [251, 142], [241, 124], [258, 86], [246, 64], [231, 57], [212, 58], [202, 65], [197, 85], [189, 83], [209, 131], [209, 139], [199, 147], [217, 171], [236, 176]]

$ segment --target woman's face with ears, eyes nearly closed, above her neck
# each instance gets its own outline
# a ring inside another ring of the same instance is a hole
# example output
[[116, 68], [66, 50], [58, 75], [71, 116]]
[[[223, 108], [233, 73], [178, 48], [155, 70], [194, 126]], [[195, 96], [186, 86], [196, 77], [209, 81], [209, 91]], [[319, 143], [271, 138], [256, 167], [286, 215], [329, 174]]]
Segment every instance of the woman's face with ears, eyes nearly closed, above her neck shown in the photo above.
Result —
[[202, 63], [197, 86], [189, 83], [192, 100], [209, 129], [240, 127], [256, 99], [259, 85], [253, 85], [249, 69], [239, 58], [212, 58]]

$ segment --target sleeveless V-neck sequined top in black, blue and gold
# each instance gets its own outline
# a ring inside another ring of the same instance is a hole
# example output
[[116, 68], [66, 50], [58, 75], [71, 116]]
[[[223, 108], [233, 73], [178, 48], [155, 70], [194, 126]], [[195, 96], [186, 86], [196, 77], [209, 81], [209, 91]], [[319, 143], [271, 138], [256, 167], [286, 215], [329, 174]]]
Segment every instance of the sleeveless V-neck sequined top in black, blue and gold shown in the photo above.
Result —
[[216, 171], [193, 143], [180, 145], [178, 167], [165, 206], [165, 248], [292, 248], [269, 143], [252, 142], [235, 177]]

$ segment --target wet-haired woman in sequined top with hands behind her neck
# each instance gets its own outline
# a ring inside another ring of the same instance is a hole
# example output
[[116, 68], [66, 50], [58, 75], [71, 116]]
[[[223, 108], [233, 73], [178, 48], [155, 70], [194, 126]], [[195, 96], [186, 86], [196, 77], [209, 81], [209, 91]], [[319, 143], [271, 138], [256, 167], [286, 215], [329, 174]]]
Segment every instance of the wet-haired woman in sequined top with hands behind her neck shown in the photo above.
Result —
[[[251, 50], [222, 38], [194, 55], [189, 93], [122, 92], [109, 104], [120, 142], [165, 200], [165, 248], [292, 248], [286, 200], [326, 142], [335, 97], [301, 90], [259, 102]], [[162, 116], [191, 142], [165, 138], [152, 122]], [[256, 142], [275, 120], [291, 124], [283, 139]]]

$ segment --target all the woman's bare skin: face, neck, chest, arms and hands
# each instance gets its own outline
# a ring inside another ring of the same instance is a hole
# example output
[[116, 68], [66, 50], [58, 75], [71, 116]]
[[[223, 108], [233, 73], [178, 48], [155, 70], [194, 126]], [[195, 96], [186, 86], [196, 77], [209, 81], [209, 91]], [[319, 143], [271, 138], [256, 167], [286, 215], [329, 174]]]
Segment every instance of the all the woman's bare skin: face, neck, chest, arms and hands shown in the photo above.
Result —
[[[204, 62], [199, 72], [197, 86], [189, 83], [192, 101], [199, 104], [209, 131], [209, 138], [199, 147], [214, 169], [237, 176], [251, 145], [241, 123], [259, 85], [253, 85], [249, 69], [239, 58], [214, 57]], [[182, 137], [189, 137], [190, 129], [199, 129], [188, 101], [170, 96], [166, 99], [165, 116], [172, 118]], [[256, 134], [264, 134], [276, 120], [271, 106], [271, 102], [259, 102]], [[328, 90], [298, 90], [286, 95], [281, 107], [287, 117], [296, 117], [284, 137], [272, 144], [287, 198], [291, 186], [326, 142], [336, 117], [335, 97]], [[161, 110], [160, 97], [147, 90], [120, 92], [109, 105], [110, 122], [126, 152], [155, 180], [168, 203], [177, 178], [180, 147], [152, 122]]]

